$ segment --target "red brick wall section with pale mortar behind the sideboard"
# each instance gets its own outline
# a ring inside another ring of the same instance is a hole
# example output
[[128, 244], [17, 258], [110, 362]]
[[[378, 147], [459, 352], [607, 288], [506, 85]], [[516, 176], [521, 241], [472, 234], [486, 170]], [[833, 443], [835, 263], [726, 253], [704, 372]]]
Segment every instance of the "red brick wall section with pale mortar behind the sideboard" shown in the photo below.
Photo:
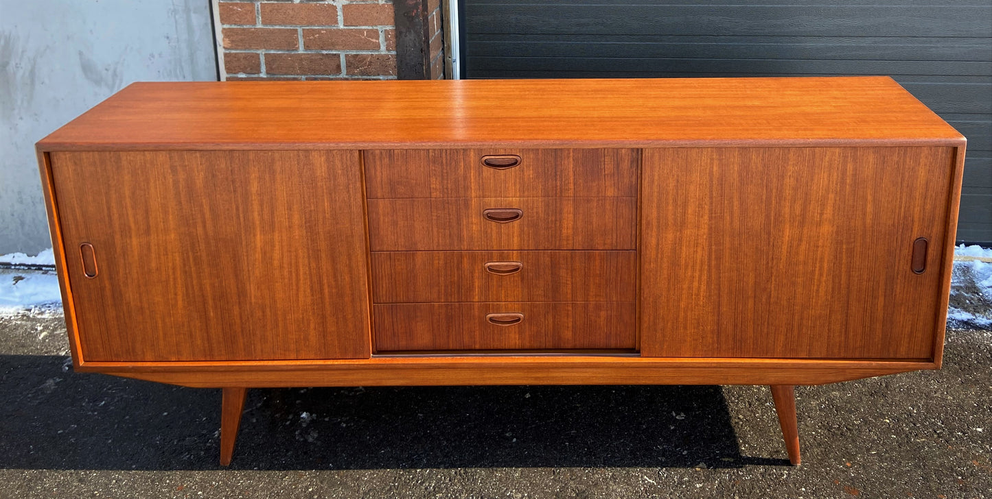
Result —
[[[228, 80], [396, 77], [389, 0], [219, 0], [216, 5]], [[440, 27], [439, 6], [434, 14]], [[443, 68], [443, 57], [438, 59]]]

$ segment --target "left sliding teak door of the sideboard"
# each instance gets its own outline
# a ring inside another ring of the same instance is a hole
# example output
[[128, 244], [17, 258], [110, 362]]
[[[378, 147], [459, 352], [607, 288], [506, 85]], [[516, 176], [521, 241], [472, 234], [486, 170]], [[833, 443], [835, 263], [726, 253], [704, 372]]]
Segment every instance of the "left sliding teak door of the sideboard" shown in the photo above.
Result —
[[53, 153], [81, 357], [368, 357], [357, 164], [346, 150]]

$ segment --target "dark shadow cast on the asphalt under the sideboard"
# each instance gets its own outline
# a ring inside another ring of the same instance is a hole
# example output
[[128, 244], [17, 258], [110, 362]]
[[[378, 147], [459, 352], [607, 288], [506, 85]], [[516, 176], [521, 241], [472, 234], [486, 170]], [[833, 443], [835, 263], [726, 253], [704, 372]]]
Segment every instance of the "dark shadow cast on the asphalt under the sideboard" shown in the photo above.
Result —
[[[220, 391], [0, 355], [0, 467], [216, 469]], [[233, 468], [739, 467], [717, 386], [254, 389]]]

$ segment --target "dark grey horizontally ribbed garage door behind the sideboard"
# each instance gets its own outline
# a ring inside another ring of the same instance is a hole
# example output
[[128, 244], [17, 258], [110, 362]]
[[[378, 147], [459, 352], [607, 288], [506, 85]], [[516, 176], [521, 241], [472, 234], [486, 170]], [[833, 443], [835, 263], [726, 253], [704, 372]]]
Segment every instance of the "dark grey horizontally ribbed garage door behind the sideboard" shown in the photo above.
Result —
[[464, 0], [469, 78], [887, 74], [968, 138], [957, 239], [992, 245], [989, 0]]

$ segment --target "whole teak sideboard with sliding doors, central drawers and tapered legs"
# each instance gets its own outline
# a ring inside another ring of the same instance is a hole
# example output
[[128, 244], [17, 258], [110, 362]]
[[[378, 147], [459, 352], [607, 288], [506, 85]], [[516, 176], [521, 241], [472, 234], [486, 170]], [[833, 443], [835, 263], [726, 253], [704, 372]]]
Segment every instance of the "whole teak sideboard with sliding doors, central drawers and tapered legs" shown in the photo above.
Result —
[[888, 77], [135, 83], [38, 144], [79, 371], [794, 386], [940, 366], [965, 140]]

